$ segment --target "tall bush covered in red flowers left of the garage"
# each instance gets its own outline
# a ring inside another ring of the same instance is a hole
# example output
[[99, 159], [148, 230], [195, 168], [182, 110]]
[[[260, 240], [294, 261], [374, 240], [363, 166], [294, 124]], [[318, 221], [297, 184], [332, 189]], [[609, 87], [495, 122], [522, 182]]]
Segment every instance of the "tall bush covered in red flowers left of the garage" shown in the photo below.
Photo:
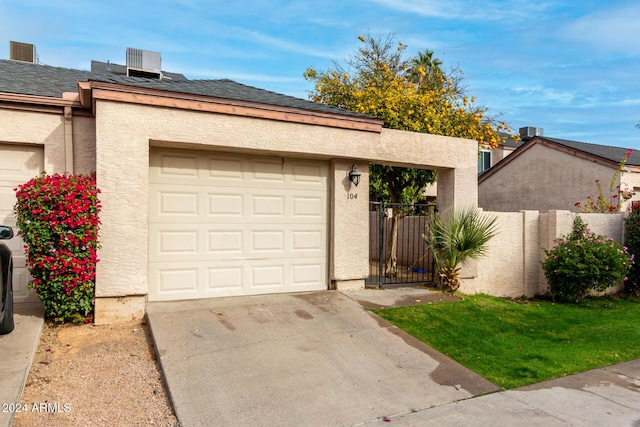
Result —
[[93, 320], [100, 202], [95, 176], [41, 175], [15, 189], [30, 287], [55, 322]]

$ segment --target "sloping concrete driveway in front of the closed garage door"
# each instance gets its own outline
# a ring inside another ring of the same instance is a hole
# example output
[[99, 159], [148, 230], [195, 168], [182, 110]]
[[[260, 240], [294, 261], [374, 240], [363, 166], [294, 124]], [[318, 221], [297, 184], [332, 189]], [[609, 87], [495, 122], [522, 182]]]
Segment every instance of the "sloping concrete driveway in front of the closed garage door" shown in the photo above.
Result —
[[183, 427], [357, 425], [498, 390], [336, 291], [149, 303], [147, 316]]

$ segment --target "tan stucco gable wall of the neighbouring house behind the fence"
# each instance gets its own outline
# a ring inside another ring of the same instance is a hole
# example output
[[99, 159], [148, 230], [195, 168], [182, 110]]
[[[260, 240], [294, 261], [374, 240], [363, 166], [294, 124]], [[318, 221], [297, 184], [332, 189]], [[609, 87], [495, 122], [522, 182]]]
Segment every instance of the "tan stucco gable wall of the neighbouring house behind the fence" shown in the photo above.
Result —
[[536, 144], [478, 185], [478, 205], [487, 211], [578, 212], [576, 202], [608, 190], [615, 170]]

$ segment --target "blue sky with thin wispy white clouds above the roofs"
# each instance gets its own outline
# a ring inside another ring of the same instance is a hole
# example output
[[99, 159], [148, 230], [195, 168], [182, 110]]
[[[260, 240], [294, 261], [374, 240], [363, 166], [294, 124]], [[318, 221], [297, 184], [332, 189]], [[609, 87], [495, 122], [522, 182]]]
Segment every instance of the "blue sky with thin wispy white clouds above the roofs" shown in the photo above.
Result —
[[78, 69], [124, 64], [135, 47], [161, 52], [166, 71], [300, 98], [307, 67], [344, 64], [366, 33], [433, 50], [516, 129], [640, 149], [637, 0], [0, 0], [3, 59], [9, 40]]

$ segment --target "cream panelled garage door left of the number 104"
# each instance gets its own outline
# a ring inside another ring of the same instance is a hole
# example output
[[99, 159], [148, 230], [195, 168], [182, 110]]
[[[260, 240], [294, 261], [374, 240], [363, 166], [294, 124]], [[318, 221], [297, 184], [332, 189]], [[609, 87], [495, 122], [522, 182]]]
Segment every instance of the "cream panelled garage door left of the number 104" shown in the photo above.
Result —
[[149, 300], [328, 287], [326, 162], [152, 149]]

